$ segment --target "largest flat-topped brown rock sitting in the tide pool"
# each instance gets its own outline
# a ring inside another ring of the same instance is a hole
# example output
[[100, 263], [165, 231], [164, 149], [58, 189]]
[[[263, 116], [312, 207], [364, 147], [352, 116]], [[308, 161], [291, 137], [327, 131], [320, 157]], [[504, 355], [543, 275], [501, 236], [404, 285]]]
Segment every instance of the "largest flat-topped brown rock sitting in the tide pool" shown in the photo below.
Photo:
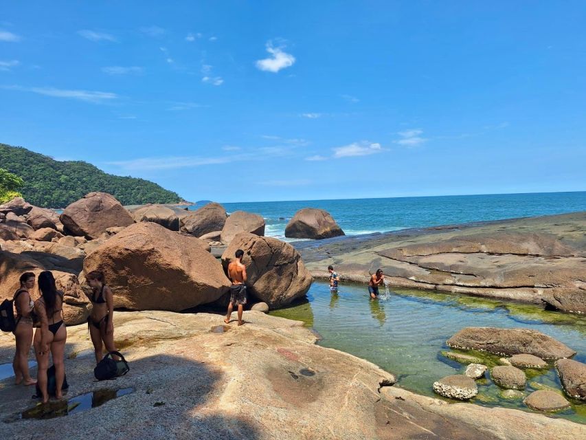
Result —
[[488, 351], [496, 355], [527, 353], [541, 359], [570, 358], [576, 351], [562, 342], [529, 329], [497, 329], [493, 327], [467, 327], [458, 331], [446, 342], [460, 350]]

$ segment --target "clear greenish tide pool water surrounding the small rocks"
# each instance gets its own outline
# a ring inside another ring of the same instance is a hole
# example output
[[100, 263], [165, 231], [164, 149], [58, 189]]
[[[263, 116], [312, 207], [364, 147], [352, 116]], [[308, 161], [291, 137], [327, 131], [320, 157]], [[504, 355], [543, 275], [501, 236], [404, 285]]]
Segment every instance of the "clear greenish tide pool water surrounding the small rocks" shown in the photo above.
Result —
[[[321, 281], [313, 283], [307, 298], [307, 302], [271, 311], [271, 315], [304, 321], [322, 336], [319, 345], [369, 360], [394, 373], [398, 386], [422, 395], [437, 397], [433, 382], [464, 372], [465, 364], [441, 354], [449, 350], [446, 340], [464, 327], [536, 329], [572, 347], [578, 352], [574, 359], [586, 362], [586, 316], [544, 311], [534, 305], [407, 289], [381, 292], [379, 300], [370, 300], [365, 285], [344, 283], [335, 294]], [[473, 354], [488, 366], [497, 364], [499, 358]], [[543, 387], [561, 390], [553, 368], [526, 373], [525, 395]], [[504, 399], [488, 374], [479, 382], [479, 394], [472, 401], [529, 410], [522, 397]], [[586, 423], [586, 404], [572, 401], [572, 408], [556, 417]]]

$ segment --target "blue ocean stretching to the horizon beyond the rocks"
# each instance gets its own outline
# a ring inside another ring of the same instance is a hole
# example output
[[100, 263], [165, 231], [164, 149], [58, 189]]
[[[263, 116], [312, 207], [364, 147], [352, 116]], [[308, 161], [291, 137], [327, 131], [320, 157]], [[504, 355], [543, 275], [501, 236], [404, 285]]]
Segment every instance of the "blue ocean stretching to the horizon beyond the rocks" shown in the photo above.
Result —
[[[284, 239], [287, 222], [297, 210], [328, 211], [346, 235], [372, 234], [405, 228], [469, 223], [586, 211], [586, 191], [528, 194], [396, 197], [222, 203], [227, 212], [244, 210], [262, 215], [265, 235]], [[192, 209], [200, 206], [193, 206]]]

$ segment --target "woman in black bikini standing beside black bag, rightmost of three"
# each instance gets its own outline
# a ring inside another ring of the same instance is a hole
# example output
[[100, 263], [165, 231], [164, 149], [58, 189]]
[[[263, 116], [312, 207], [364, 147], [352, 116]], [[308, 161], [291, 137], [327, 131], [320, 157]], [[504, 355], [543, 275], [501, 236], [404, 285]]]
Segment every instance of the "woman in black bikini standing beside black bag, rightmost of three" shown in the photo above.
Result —
[[[114, 345], [114, 297], [110, 287], [106, 286], [106, 278], [103, 272], [94, 270], [85, 277], [91, 287], [91, 314], [87, 318], [87, 327], [93, 342], [95, 362], [98, 363], [104, 357], [103, 345], [107, 351], [116, 351]], [[103, 345], [102, 345], [103, 343]], [[114, 357], [117, 359], [117, 357]]]

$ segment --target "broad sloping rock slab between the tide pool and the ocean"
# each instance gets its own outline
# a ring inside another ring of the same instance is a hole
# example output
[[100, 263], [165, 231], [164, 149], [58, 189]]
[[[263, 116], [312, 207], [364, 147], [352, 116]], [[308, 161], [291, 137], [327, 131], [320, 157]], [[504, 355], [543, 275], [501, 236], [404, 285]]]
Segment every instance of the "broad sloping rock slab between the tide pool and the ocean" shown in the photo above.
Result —
[[294, 243], [315, 278], [545, 303], [586, 313], [586, 212]]

